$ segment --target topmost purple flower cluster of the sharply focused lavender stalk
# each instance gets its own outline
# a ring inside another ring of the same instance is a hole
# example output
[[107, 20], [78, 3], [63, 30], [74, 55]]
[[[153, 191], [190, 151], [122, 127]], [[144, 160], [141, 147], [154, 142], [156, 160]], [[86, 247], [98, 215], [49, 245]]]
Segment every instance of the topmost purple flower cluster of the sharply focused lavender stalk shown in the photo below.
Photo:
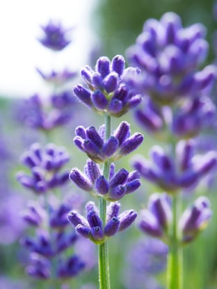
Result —
[[86, 66], [81, 69], [81, 76], [88, 85], [74, 86], [74, 94], [78, 99], [97, 113], [108, 113], [120, 117], [137, 106], [141, 97], [122, 82], [126, 69], [124, 58], [120, 55], [109, 60], [102, 56], [97, 60], [95, 70]]

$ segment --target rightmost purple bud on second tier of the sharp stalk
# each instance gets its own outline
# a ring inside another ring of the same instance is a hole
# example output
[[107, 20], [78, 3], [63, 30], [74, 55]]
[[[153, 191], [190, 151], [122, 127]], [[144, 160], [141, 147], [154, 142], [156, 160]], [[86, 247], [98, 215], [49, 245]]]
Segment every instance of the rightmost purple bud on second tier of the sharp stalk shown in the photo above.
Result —
[[119, 151], [120, 156], [130, 154], [132, 151], [137, 149], [142, 142], [143, 135], [141, 133], [134, 133], [134, 135], [131, 135], [130, 138], [127, 138], [127, 140], [122, 143]]

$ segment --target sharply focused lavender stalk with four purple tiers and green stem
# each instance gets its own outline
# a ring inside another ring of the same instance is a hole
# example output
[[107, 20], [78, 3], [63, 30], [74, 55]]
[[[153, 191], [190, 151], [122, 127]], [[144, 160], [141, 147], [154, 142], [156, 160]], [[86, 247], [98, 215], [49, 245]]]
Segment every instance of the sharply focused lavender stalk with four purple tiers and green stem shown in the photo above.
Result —
[[[85, 129], [77, 127], [74, 143], [90, 158], [84, 174], [73, 168], [70, 179], [79, 188], [90, 192], [99, 199], [99, 209], [93, 202], [86, 206], [87, 220], [77, 212], [70, 212], [69, 220], [77, 233], [89, 238], [98, 245], [99, 288], [109, 289], [109, 253], [107, 240], [118, 231], [127, 229], [136, 218], [136, 211], [127, 210], [118, 215], [119, 199], [134, 192], [140, 185], [137, 172], [127, 172], [124, 168], [115, 173], [113, 161], [134, 151], [143, 141], [143, 135], [130, 135], [129, 124], [122, 122], [111, 134], [111, 117], [120, 117], [140, 103], [140, 95], [135, 94], [122, 83], [124, 58], [115, 56], [113, 60], [101, 57], [95, 71], [89, 66], [81, 69], [88, 88], [74, 86], [74, 94], [83, 104], [104, 115], [105, 124]], [[97, 163], [103, 164], [102, 172]], [[107, 206], [107, 202], [111, 204]]]

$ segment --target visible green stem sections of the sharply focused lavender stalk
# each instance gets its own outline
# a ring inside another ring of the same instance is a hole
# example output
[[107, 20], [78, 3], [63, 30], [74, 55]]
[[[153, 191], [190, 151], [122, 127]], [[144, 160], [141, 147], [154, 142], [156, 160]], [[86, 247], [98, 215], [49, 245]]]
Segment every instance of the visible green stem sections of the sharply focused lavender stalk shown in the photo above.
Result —
[[[106, 125], [106, 140], [111, 135], [111, 117], [105, 115]], [[109, 179], [109, 167], [110, 162], [104, 163], [103, 174], [106, 179]], [[106, 224], [106, 200], [99, 197], [99, 215], [103, 224]], [[99, 261], [99, 289], [110, 289], [110, 278], [109, 278], [109, 254], [107, 241], [98, 245], [98, 261]]]

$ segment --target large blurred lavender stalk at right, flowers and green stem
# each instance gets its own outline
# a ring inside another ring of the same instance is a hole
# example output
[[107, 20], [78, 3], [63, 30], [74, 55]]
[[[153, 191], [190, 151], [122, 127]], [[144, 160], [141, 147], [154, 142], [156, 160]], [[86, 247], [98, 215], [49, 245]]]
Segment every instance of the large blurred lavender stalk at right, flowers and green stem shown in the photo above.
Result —
[[140, 220], [142, 231], [169, 245], [168, 289], [182, 288], [182, 245], [188, 239], [182, 222], [188, 223], [190, 242], [211, 217], [206, 200], [205, 205], [190, 210], [187, 221], [181, 217], [179, 223], [181, 192], [193, 191], [202, 177], [216, 167], [214, 151], [203, 157], [193, 156], [193, 138], [211, 126], [216, 115], [208, 97], [216, 69], [209, 65], [198, 71], [207, 49], [201, 24], [183, 28], [178, 15], [166, 13], [159, 22], [148, 19], [136, 44], [127, 51], [138, 69], [129, 70], [124, 79], [145, 95], [145, 106], [136, 110], [136, 120], [167, 147], [154, 146], [150, 151], [152, 163], [139, 157], [134, 168], [170, 199], [171, 205], [166, 197], [151, 196]]

